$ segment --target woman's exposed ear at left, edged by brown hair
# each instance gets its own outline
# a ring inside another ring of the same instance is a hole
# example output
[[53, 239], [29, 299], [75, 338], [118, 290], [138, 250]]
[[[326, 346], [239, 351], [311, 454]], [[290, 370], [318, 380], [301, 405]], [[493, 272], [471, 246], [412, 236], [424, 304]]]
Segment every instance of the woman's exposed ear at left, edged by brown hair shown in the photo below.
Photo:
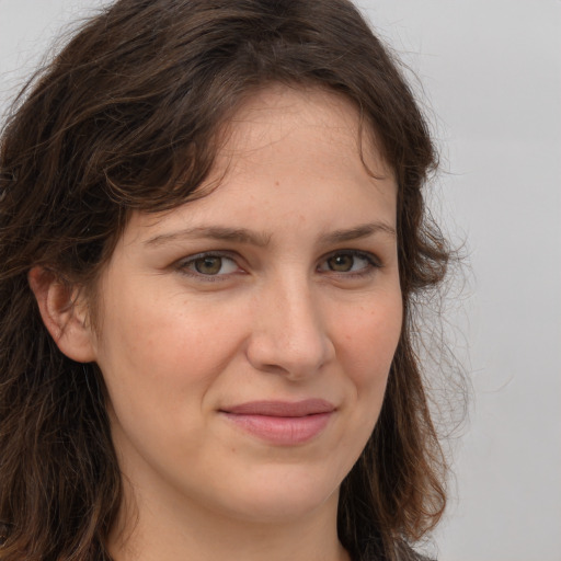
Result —
[[93, 362], [94, 333], [79, 287], [42, 266], [33, 267], [27, 280], [37, 300], [43, 323], [58, 348], [72, 360]]

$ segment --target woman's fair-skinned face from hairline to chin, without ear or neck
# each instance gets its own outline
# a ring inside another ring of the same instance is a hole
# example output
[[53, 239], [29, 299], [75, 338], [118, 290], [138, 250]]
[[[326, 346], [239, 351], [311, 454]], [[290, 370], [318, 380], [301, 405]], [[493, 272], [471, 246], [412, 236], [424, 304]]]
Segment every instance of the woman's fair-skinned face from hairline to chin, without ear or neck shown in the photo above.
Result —
[[232, 119], [216, 190], [133, 216], [92, 341], [142, 504], [273, 522], [336, 508], [401, 329], [397, 187], [376, 154], [347, 101], [268, 89]]

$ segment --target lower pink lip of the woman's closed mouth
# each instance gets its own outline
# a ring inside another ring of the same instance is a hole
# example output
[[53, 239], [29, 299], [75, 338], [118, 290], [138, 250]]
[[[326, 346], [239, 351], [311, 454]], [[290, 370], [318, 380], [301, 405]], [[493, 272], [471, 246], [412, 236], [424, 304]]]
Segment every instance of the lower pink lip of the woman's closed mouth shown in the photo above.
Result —
[[273, 444], [291, 446], [318, 436], [329, 423], [332, 412], [306, 416], [224, 414], [247, 433]]

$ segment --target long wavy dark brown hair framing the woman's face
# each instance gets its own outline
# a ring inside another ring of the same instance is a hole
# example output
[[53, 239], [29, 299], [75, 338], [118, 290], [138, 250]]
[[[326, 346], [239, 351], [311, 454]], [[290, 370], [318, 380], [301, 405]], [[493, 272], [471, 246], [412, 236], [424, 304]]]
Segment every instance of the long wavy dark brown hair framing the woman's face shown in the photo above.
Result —
[[414, 352], [413, 307], [449, 252], [422, 187], [436, 167], [399, 66], [347, 0], [121, 0], [16, 100], [0, 152], [1, 560], [110, 559], [121, 477], [94, 364], [64, 356], [27, 273], [94, 286], [133, 209], [194, 196], [218, 129], [256, 89], [345, 95], [396, 173], [405, 319], [377, 426], [344, 480], [354, 559], [394, 559], [445, 506], [445, 461]]

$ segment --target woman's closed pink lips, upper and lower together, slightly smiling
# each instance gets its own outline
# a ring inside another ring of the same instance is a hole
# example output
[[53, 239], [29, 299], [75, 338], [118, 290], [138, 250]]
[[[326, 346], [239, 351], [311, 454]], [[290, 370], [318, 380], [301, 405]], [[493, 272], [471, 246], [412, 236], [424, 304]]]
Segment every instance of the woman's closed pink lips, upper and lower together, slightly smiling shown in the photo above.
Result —
[[243, 431], [277, 445], [304, 444], [325, 428], [335, 407], [321, 399], [252, 401], [221, 410]]

